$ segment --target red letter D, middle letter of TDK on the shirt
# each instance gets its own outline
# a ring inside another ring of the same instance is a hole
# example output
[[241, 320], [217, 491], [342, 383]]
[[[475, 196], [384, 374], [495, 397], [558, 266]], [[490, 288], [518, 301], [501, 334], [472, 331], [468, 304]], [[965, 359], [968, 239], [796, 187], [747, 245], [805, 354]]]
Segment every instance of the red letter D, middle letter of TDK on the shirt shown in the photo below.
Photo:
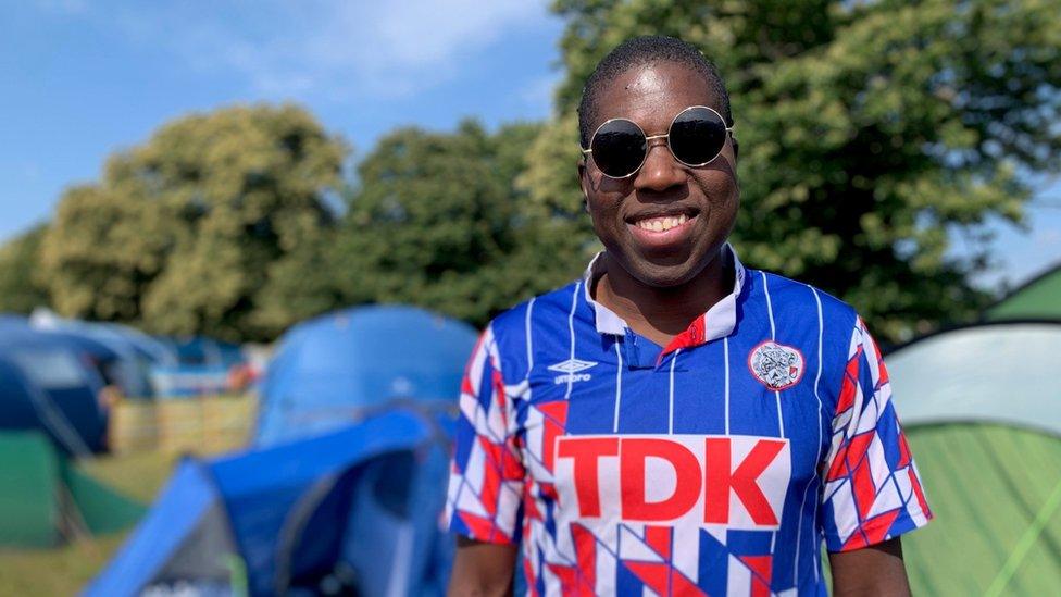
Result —
[[[661, 501], [646, 499], [645, 468], [649, 457], [666, 460], [674, 467], [674, 493]], [[623, 518], [628, 520], [673, 520], [688, 512], [700, 497], [700, 463], [696, 455], [676, 441], [623, 439], [620, 480]]]

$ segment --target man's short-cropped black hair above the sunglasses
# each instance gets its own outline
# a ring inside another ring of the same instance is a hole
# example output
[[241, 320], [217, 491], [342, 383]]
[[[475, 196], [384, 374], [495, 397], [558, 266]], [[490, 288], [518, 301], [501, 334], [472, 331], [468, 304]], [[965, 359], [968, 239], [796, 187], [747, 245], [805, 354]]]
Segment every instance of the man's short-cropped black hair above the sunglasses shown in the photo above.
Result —
[[674, 37], [650, 35], [627, 39], [608, 53], [597, 63], [586, 86], [583, 87], [582, 102], [578, 104], [578, 138], [582, 146], [589, 147], [589, 137], [594, 134], [590, 128], [597, 121], [597, 99], [604, 84], [626, 73], [634, 66], [641, 66], [653, 62], [672, 62], [686, 66], [700, 74], [708, 87], [719, 100], [720, 112], [726, 124], [733, 126], [733, 113], [729, 111], [729, 94], [719, 70], [696, 46]]

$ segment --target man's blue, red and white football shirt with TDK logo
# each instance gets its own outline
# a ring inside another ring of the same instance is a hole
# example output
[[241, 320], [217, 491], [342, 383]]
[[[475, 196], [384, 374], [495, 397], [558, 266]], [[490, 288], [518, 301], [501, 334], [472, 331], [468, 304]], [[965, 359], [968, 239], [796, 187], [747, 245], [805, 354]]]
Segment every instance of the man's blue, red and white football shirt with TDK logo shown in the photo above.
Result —
[[447, 514], [520, 544], [528, 594], [825, 595], [823, 542], [932, 517], [862, 321], [733, 260], [734, 294], [667, 347], [592, 300], [592, 266], [483, 333]]

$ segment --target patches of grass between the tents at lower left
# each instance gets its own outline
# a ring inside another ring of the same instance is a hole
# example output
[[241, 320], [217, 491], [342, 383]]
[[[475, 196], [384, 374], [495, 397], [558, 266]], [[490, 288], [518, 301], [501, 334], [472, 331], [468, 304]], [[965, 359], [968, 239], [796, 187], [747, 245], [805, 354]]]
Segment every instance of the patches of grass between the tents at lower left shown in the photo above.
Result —
[[[150, 503], [179, 457], [158, 451], [108, 456], [78, 465], [118, 492]], [[76, 595], [121, 547], [125, 533], [49, 549], [0, 548], [0, 595]]]

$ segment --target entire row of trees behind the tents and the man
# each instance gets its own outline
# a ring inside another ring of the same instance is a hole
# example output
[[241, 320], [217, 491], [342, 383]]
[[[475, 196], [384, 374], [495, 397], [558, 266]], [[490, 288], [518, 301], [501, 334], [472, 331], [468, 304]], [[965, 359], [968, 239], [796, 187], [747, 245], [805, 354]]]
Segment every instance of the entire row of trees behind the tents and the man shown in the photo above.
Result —
[[[483, 324], [598, 248], [575, 108], [623, 40], [681, 37], [726, 77], [749, 264], [853, 303], [884, 339], [972, 316], [987, 219], [1061, 170], [1058, 0], [554, 0], [554, 117], [403, 128], [345, 187], [347, 148], [305, 111], [176, 120], [0, 249], [0, 309], [272, 339], [338, 307], [407, 302]], [[337, 220], [329, 195], [342, 189]], [[979, 250], [957, 258], [948, 239]]]

